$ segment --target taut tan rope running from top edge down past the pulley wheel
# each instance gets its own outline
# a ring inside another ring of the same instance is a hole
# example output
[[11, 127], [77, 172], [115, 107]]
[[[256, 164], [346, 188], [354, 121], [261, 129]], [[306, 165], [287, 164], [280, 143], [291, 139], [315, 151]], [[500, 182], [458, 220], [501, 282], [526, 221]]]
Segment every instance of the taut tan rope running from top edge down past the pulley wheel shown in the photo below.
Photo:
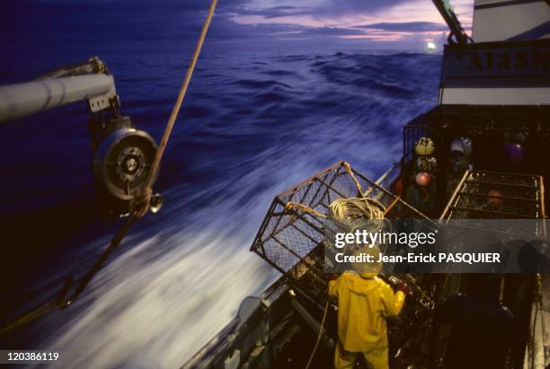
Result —
[[137, 208], [138, 217], [142, 217], [143, 215], [145, 215], [147, 209], [149, 208], [149, 201], [153, 193], [151, 186], [155, 181], [156, 172], [158, 171], [158, 167], [163, 157], [164, 149], [168, 144], [168, 139], [172, 134], [172, 129], [173, 129], [173, 126], [175, 125], [175, 120], [178, 118], [178, 113], [182, 108], [183, 98], [185, 97], [185, 93], [187, 92], [187, 87], [191, 82], [191, 76], [193, 75], [193, 71], [195, 69], [195, 65], [197, 64], [197, 60], [199, 59], [200, 49], [202, 48], [202, 44], [204, 43], [204, 40], [206, 38], [208, 27], [210, 25], [210, 22], [212, 21], [214, 10], [216, 9], [216, 4], [217, 4], [217, 0], [212, 0], [210, 3], [206, 21], [202, 26], [202, 31], [200, 31], [199, 40], [197, 41], [197, 46], [195, 47], [195, 52], [193, 53], [193, 57], [191, 57], [191, 64], [187, 68], [187, 74], [183, 79], [182, 88], [180, 89], [180, 92], [178, 93], [178, 97], [175, 101], [175, 104], [173, 105], [173, 110], [172, 110], [172, 114], [170, 115], [170, 119], [168, 119], [168, 123], [166, 123], [166, 128], [164, 129], [163, 138], [161, 139], [161, 143], [160, 145], [158, 145], [158, 150], [156, 151], [156, 154], [155, 154], [155, 160], [151, 164], [151, 170], [149, 171], [148, 176], [146, 177], [146, 181], [144, 182], [142, 192], [138, 194], [138, 196], [136, 197], [135, 208]]

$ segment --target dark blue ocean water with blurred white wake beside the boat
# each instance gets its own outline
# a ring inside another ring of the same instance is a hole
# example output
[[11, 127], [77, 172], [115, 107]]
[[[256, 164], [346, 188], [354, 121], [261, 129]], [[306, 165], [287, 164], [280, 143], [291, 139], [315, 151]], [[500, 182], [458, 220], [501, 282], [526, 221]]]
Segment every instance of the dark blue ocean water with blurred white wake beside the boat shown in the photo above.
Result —
[[[123, 114], [158, 140], [192, 48], [102, 48]], [[0, 82], [91, 56], [78, 44], [40, 52], [49, 57], [18, 59]], [[437, 103], [439, 64], [395, 51], [207, 45], [157, 181], [164, 208], [130, 229], [74, 306], [9, 346], [58, 351], [67, 367], [182, 365], [278, 277], [249, 251], [271, 199], [339, 160], [376, 178], [400, 158], [402, 126]], [[0, 157], [8, 317], [84, 274], [118, 224], [95, 206], [84, 103], [0, 127]]]

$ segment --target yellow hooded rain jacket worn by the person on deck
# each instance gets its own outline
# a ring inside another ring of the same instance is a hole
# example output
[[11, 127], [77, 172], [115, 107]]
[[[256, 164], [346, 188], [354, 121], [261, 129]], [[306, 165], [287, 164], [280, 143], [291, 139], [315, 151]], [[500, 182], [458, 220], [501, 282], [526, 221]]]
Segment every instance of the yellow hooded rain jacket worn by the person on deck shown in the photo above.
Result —
[[342, 348], [366, 353], [387, 347], [386, 317], [401, 312], [405, 295], [377, 273], [344, 273], [329, 283], [329, 294], [338, 298], [338, 337]]

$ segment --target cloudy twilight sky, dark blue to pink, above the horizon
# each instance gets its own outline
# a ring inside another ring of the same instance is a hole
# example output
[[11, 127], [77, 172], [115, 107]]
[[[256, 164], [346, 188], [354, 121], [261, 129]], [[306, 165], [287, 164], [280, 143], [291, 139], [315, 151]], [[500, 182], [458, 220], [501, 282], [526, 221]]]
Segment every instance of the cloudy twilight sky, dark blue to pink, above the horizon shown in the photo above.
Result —
[[[196, 40], [208, 0], [6, 0], [0, 41]], [[452, 2], [466, 31], [473, 0]], [[417, 48], [448, 28], [430, 0], [218, 0], [208, 40]], [[2, 36], [4, 35], [4, 36]]]

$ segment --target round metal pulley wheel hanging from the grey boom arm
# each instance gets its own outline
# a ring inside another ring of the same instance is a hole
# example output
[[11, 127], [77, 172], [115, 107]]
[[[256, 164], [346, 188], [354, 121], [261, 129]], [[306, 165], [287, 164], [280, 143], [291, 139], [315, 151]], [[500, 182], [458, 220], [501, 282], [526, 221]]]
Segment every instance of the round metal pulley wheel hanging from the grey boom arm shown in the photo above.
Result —
[[122, 128], [111, 132], [93, 159], [96, 183], [115, 198], [131, 200], [146, 180], [156, 150], [155, 140], [144, 131]]

